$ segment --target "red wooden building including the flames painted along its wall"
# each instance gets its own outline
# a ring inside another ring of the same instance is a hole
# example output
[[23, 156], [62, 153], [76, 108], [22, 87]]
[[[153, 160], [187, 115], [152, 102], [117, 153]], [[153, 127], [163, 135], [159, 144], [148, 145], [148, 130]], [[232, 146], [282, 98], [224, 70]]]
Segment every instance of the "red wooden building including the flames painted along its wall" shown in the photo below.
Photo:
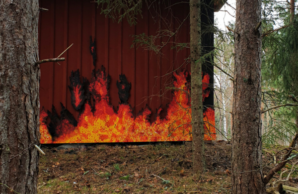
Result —
[[[90, 2], [90, 0], [41, 0], [40, 7], [49, 9], [49, 11], [41, 11], [39, 18], [40, 59], [56, 58], [68, 46], [74, 44], [62, 56], [66, 58], [66, 61], [59, 62], [60, 65], [58, 63], [41, 64], [40, 67], [40, 103], [43, 107], [41, 111], [42, 143], [191, 140], [191, 136], [187, 135], [191, 131], [187, 120], [190, 119], [190, 99], [184, 104], [186, 116], [170, 118], [176, 113], [176, 117], [183, 114], [183, 112], [178, 114], [177, 104], [173, 105], [177, 101], [175, 95], [176, 97], [187, 98], [186, 92], [189, 90], [189, 73], [186, 71], [190, 70], [190, 64], [187, 60], [190, 51], [188, 48], [180, 47], [181, 45], [187, 47], [187, 43], [190, 42], [188, 3], [181, 3], [179, 0], [160, 0], [152, 3], [149, 9], [144, 4], [143, 18], [140, 16], [137, 25], [133, 26], [130, 26], [125, 19], [118, 23], [100, 14], [100, 7], [97, 7], [97, 4]], [[209, 25], [213, 24], [212, 8], [206, 9], [206, 14], [202, 15], [202, 20]], [[172, 32], [177, 30], [177, 32], [169, 36], [169, 33], [162, 30]], [[168, 43], [156, 54], [154, 51], [133, 44], [134, 35], [142, 33], [148, 36], [164, 34], [165, 36], [156, 38], [154, 44]], [[97, 58], [94, 63], [95, 67], [90, 53], [90, 36], [92, 40], [96, 40], [95, 45], [93, 45]], [[213, 49], [213, 33], [207, 33], [203, 36], [203, 45], [206, 46], [207, 52]], [[103, 69], [101, 69], [102, 66], [105, 68], [105, 76]], [[98, 70], [98, 74], [95, 73], [92, 77], [93, 69]], [[76, 75], [78, 82], [74, 83], [74, 74], [73, 79], [70, 77], [72, 71], [76, 70], [79, 70], [79, 77]], [[206, 72], [203, 75], [206, 82], [205, 104], [211, 105], [209, 108], [211, 110], [213, 92], [212, 87], [208, 84], [213, 84], [213, 67], [206, 65], [204, 70]], [[174, 76], [173, 72], [176, 72]], [[126, 76], [128, 81], [126, 85], [119, 80], [119, 75], [122, 74]], [[110, 79], [108, 79], [108, 75]], [[84, 91], [78, 91], [79, 88], [81, 90], [85, 86], [83, 77], [89, 80], [90, 85], [86, 86]], [[182, 81], [178, 83], [180, 79]], [[120, 101], [118, 95], [120, 89], [117, 88], [117, 81], [120, 85], [122, 84], [122, 88], [127, 88], [131, 83], [130, 96], [127, 101]], [[98, 94], [95, 94], [96, 91], [92, 93], [98, 83], [102, 87], [98, 90], [108, 89], [106, 97], [104, 96], [105, 93], [99, 91], [97, 91]], [[186, 91], [185, 94], [172, 91], [173, 83], [176, 83], [174, 87]], [[77, 93], [73, 92], [72, 94], [69, 86], [70, 88], [74, 87], [73, 91], [76, 91], [76, 87]], [[93, 86], [92, 89], [91, 86]], [[78, 108], [74, 105], [79, 104], [79, 101], [75, 101], [77, 95], [91, 97], [88, 99], [83, 97], [84, 102]], [[107, 107], [100, 113], [99, 109], [105, 106], [102, 104], [104, 99], [106, 99], [105, 105]], [[100, 100], [101, 104], [99, 103]], [[122, 107], [123, 104], [127, 106]], [[57, 114], [52, 109], [53, 105], [58, 112]], [[111, 106], [108, 107], [109, 105]], [[133, 109], [129, 109], [129, 105]], [[174, 110], [174, 106], [177, 106], [176, 110]], [[146, 107], [151, 109], [151, 114], [142, 111], [144, 109], [149, 110]], [[161, 110], [160, 107], [162, 111], [157, 114], [156, 118], [156, 113]], [[87, 108], [90, 108], [89, 113], [86, 113]], [[120, 113], [121, 108], [124, 108], [124, 112], [129, 112], [129, 115]], [[188, 109], [185, 110], [185, 108]], [[138, 114], [140, 111], [142, 112]], [[171, 113], [169, 113], [170, 111]], [[72, 116], [66, 116], [70, 114]], [[100, 114], [100, 116], [96, 117], [96, 114]], [[206, 115], [206, 119], [214, 124], [213, 110], [208, 114], [211, 116]], [[148, 116], [150, 118], [146, 120]], [[101, 118], [99, 119], [99, 117]], [[141, 121], [137, 121], [141, 117], [145, 119], [142, 121], [142, 126], [140, 125]], [[186, 119], [186, 117], [188, 118]], [[72, 119], [75, 119], [76, 122], [71, 121]], [[92, 126], [88, 122], [92, 122]], [[120, 127], [120, 125], [123, 126]], [[158, 129], [156, 128], [157, 125]], [[148, 128], [152, 129], [147, 133], [145, 131]], [[214, 139], [214, 127], [208, 126], [206, 129], [210, 130], [210, 134], [206, 138]], [[101, 135], [95, 135], [97, 132]], [[123, 134], [126, 134], [126, 137], [123, 137]], [[173, 136], [172, 139], [169, 138], [170, 135]], [[96, 137], [91, 138], [91, 136]], [[134, 137], [129, 138], [129, 136]], [[183, 137], [178, 138], [178, 136]]]

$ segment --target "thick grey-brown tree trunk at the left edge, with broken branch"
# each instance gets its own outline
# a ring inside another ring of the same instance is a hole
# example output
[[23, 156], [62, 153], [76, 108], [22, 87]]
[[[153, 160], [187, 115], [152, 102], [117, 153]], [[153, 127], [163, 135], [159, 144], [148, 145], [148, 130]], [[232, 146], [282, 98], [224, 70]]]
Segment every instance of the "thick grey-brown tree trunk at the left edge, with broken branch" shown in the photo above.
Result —
[[0, 1], [0, 194], [37, 193], [38, 17], [38, 0]]

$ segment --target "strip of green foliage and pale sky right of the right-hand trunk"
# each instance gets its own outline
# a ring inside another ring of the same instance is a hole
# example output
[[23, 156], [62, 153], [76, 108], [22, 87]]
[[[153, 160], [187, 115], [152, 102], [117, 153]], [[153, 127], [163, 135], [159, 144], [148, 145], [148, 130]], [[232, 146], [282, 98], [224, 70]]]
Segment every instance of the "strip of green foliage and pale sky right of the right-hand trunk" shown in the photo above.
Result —
[[[262, 97], [264, 109], [295, 103], [289, 95], [298, 96], [298, 16], [290, 20], [287, 1], [263, 0], [262, 29]], [[285, 106], [264, 115], [263, 142], [291, 142], [297, 133], [298, 106]]]

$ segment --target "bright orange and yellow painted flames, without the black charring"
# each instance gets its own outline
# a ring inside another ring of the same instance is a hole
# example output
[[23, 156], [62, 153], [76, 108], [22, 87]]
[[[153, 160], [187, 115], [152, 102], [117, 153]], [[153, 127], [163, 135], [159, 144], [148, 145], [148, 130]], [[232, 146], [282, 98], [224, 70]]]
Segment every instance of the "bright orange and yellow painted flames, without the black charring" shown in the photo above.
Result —
[[[60, 135], [53, 139], [46, 124], [48, 114], [41, 110], [41, 143], [191, 141], [188, 76], [187, 71], [174, 73], [173, 99], [168, 104], [166, 117], [160, 117], [162, 109], [159, 108], [155, 121], [150, 123], [149, 107], [137, 116], [133, 115], [133, 108], [125, 103], [119, 104], [118, 111], [114, 111], [109, 103], [109, 79], [101, 71], [92, 77], [89, 85], [89, 91], [95, 99], [94, 107], [91, 107], [89, 101], [85, 103], [84, 110], [78, 116], [76, 127], [66, 118], [63, 119], [57, 126]], [[209, 79], [208, 74], [204, 75], [204, 91], [208, 88]], [[203, 98], [208, 97], [209, 93], [204, 92]], [[210, 107], [204, 112], [204, 124], [205, 140], [215, 140], [215, 116], [214, 110]]]

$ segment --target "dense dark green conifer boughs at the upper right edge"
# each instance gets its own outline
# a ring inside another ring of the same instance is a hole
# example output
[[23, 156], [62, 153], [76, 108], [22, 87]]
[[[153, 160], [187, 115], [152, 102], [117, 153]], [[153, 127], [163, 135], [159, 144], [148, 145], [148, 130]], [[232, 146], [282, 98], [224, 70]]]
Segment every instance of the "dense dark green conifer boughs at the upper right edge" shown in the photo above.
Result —
[[264, 37], [263, 80], [298, 96], [298, 17], [278, 34]]

